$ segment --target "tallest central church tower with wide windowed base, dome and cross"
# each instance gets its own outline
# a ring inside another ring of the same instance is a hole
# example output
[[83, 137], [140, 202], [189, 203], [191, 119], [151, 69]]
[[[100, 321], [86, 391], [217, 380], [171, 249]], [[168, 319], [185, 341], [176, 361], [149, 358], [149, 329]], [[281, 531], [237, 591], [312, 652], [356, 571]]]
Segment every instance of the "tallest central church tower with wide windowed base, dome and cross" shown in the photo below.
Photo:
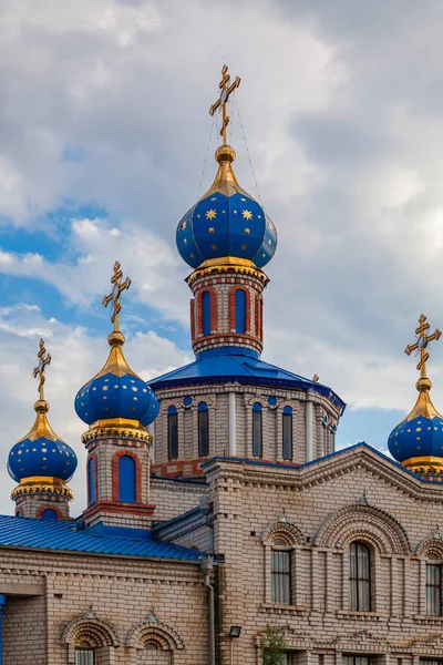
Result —
[[277, 232], [264, 207], [238, 183], [228, 145], [228, 103], [240, 79], [222, 70], [222, 145], [209, 190], [182, 217], [176, 243], [193, 268], [187, 284], [195, 362], [154, 380], [161, 402], [154, 472], [198, 477], [214, 456], [301, 463], [334, 449], [344, 408], [332, 390], [261, 360], [264, 267]]

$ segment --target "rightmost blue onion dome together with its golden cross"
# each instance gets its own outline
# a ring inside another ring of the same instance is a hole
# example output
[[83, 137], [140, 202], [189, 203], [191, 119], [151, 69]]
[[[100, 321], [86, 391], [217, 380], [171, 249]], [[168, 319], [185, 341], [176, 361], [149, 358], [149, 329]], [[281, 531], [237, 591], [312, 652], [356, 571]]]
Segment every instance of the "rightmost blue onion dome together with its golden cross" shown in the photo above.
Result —
[[392, 457], [411, 471], [432, 473], [443, 471], [443, 416], [432, 403], [430, 391], [432, 382], [426, 375], [430, 342], [439, 339], [440, 330], [427, 335], [430, 324], [421, 315], [415, 330], [416, 341], [405, 349], [408, 355], [416, 351], [420, 361], [416, 368], [420, 378], [416, 381], [419, 397], [412, 411], [402, 420], [388, 439]]

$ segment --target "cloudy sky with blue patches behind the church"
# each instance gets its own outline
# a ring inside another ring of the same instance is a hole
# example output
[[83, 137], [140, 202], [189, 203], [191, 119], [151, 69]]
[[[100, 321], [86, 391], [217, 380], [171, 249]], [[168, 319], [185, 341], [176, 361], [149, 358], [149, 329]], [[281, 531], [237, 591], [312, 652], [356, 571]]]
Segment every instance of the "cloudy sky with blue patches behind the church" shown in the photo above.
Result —
[[[257, 196], [245, 132], [279, 232], [264, 358], [343, 398], [340, 446], [385, 449], [415, 399], [416, 319], [443, 328], [442, 23], [440, 0], [0, 0], [2, 467], [33, 421], [43, 336], [83, 509], [72, 403], [107, 354], [115, 258], [133, 279], [132, 367], [150, 379], [192, 359], [175, 227], [215, 173], [207, 111], [225, 62], [241, 76], [236, 173]], [[442, 367], [435, 344], [441, 409]]]

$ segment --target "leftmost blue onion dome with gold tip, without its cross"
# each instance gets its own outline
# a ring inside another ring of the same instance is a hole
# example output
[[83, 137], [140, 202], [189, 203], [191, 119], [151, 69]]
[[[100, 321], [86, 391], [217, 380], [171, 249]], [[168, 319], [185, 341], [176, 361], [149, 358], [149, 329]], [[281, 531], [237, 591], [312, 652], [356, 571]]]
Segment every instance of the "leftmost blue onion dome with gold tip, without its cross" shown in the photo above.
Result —
[[37, 418], [31, 431], [9, 453], [8, 473], [16, 482], [35, 475], [68, 481], [76, 469], [76, 454], [51, 428], [48, 402], [40, 399], [34, 409]]

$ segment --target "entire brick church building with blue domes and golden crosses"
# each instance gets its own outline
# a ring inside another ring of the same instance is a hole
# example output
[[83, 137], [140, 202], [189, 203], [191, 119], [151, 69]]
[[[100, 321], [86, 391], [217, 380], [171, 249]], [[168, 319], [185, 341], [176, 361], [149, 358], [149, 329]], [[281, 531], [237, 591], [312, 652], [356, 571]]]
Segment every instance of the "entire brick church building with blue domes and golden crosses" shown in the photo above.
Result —
[[[427, 377], [441, 332], [422, 315], [406, 347], [418, 398], [387, 432], [393, 459], [336, 450], [342, 399], [261, 359], [277, 232], [234, 172], [239, 83], [224, 66], [215, 180], [176, 231], [195, 360], [150, 385], [128, 366], [131, 279], [115, 262], [107, 359], [103, 340], [74, 398], [82, 441], [68, 444], [40, 341], [35, 420], [4, 460], [0, 665], [275, 665], [269, 635], [281, 665], [443, 663], [443, 416]], [[74, 472], [87, 479], [80, 515]]]

